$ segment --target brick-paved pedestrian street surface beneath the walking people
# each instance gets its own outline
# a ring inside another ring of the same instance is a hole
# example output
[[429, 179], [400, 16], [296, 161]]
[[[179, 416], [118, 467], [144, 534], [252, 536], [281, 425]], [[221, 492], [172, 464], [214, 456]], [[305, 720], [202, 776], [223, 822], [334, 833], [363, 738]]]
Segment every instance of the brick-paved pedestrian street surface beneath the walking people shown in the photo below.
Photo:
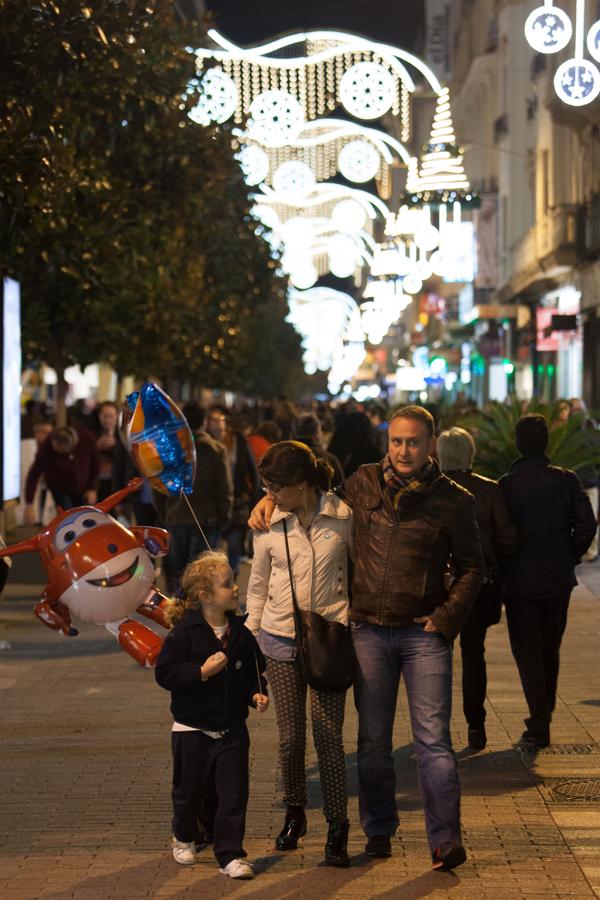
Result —
[[[21, 558], [26, 559], [25, 557]], [[78, 638], [46, 630], [31, 613], [39, 585], [12, 583], [0, 603], [3, 900], [109, 900], [235, 895], [245, 898], [533, 898], [600, 896], [600, 564], [580, 570], [564, 642], [554, 744], [535, 758], [512, 745], [525, 715], [504, 624], [488, 641], [486, 751], [470, 754], [457, 690], [454, 743], [463, 784], [468, 862], [432, 873], [416, 788], [404, 697], [394, 746], [401, 825], [389, 860], [369, 861], [358, 826], [347, 704], [352, 822], [349, 870], [320, 865], [325, 823], [309, 756], [309, 831], [291, 854], [273, 851], [282, 821], [273, 710], [252, 713], [247, 850], [258, 877], [219, 875], [210, 851], [194, 867], [168, 851], [168, 694], [100, 627]], [[20, 578], [38, 581], [35, 561]], [[455, 674], [460, 677], [460, 653]]]

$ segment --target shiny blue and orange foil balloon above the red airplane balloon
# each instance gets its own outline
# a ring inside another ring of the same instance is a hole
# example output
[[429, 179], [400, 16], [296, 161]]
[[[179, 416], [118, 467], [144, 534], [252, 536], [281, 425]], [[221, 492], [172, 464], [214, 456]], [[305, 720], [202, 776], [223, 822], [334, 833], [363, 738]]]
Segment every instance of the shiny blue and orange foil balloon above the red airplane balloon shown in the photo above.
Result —
[[146, 382], [129, 394], [121, 436], [139, 472], [162, 494], [191, 494], [196, 472], [194, 436], [176, 403]]

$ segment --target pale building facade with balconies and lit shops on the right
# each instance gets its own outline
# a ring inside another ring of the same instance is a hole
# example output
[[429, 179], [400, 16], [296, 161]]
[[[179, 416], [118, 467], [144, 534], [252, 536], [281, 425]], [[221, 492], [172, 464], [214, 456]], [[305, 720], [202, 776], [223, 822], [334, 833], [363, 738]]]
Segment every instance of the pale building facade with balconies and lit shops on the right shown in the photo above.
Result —
[[[539, 5], [451, 9], [455, 126], [482, 195], [470, 312], [485, 373], [478, 399], [583, 396], [599, 408], [600, 100], [575, 107], [556, 95], [554, 73], [573, 48], [529, 46], [524, 24]], [[575, 0], [558, 5], [574, 20]]]

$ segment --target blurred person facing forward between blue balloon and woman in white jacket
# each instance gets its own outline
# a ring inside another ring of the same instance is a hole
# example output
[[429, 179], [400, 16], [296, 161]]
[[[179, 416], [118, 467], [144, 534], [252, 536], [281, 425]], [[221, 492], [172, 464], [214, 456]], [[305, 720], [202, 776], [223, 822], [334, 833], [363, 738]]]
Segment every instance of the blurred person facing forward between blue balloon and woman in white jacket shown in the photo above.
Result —
[[233, 483], [233, 511], [231, 524], [225, 534], [229, 565], [238, 576], [242, 557], [246, 556], [245, 540], [250, 510], [258, 500], [260, 479], [254, 455], [248, 441], [230, 418], [224, 406], [211, 406], [206, 420], [210, 436], [227, 450], [229, 471]]

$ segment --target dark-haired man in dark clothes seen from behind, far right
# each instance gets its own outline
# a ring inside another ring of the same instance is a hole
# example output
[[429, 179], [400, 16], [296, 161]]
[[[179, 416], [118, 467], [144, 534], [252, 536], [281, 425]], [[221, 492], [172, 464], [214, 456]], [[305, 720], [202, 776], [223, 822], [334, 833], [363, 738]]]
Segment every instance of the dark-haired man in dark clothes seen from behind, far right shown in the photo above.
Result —
[[521, 457], [500, 479], [519, 532], [503, 565], [506, 619], [529, 718], [520, 745], [535, 752], [550, 743], [560, 644], [567, 624], [575, 565], [591, 544], [597, 521], [575, 472], [550, 465], [543, 416], [522, 416], [515, 429]]

